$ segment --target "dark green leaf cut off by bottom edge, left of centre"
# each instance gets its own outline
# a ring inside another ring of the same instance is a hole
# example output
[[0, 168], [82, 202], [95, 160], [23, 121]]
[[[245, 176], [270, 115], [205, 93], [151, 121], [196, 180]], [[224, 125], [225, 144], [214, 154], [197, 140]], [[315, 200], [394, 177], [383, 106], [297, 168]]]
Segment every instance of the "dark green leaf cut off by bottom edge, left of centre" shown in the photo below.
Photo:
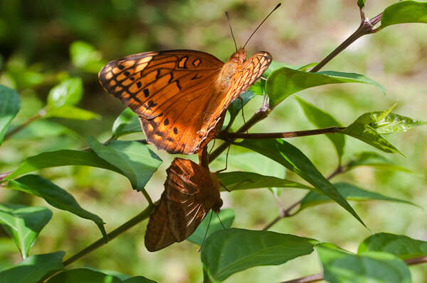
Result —
[[88, 268], [76, 268], [65, 270], [53, 276], [47, 283], [156, 283], [143, 276], [130, 277], [122, 280], [112, 274], [105, 274], [100, 271]]

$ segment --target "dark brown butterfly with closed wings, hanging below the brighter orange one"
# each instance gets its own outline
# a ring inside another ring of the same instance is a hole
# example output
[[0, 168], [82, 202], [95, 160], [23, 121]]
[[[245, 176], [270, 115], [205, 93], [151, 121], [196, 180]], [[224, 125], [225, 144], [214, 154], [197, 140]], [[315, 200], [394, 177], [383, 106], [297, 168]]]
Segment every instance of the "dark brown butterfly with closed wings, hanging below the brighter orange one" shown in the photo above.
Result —
[[149, 218], [145, 247], [154, 252], [185, 240], [211, 209], [218, 212], [222, 204], [215, 173], [191, 160], [175, 158]]

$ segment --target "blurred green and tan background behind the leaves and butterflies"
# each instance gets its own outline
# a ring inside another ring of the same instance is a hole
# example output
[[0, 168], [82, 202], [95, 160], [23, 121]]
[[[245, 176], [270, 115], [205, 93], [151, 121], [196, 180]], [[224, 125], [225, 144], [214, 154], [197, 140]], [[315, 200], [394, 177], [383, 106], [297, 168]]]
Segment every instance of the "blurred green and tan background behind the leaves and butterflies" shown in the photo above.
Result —
[[[356, 2], [283, 1], [283, 6], [248, 43], [247, 54], [266, 50], [273, 55], [273, 60], [279, 62], [293, 65], [319, 62], [359, 26]], [[35, 115], [46, 103], [51, 87], [66, 77], [83, 79], [85, 92], [79, 106], [102, 116], [100, 120], [91, 121], [51, 118], [33, 123], [1, 146], [0, 172], [14, 170], [26, 157], [46, 150], [85, 148], [87, 135], [94, 135], [99, 140], [110, 136], [112, 122], [125, 106], [105, 94], [98, 84], [97, 71], [103, 63], [136, 52], [167, 49], [203, 50], [227, 60], [234, 44], [224, 11], [230, 13], [238, 44], [243, 44], [277, 3], [276, 0], [0, 1], [0, 84], [17, 89], [22, 100], [22, 108], [14, 124], [23, 123]], [[367, 1], [367, 17], [376, 16], [393, 3]], [[72, 45], [74, 47], [70, 50]], [[88, 57], [84, 59], [84, 55]], [[427, 120], [426, 25], [391, 26], [378, 34], [365, 36], [332, 60], [324, 70], [365, 74], [387, 89], [384, 96], [375, 87], [342, 84], [297, 94], [331, 113], [344, 126], [362, 113], [381, 111], [396, 102], [394, 112]], [[262, 97], [253, 99], [245, 108], [246, 116], [251, 116], [261, 103]], [[239, 117], [235, 125], [241, 122]], [[251, 132], [311, 128], [313, 126], [291, 96]], [[406, 157], [386, 157], [415, 174], [359, 167], [334, 181], [345, 180], [381, 194], [413, 201], [425, 208], [426, 136], [426, 127], [387, 136]], [[143, 138], [143, 135], [125, 138]], [[334, 149], [324, 136], [294, 138], [290, 142], [310, 157], [323, 174], [330, 174], [337, 166]], [[347, 138], [344, 160], [363, 150], [376, 151], [359, 140]], [[158, 199], [163, 190], [164, 170], [173, 158], [164, 152], [159, 152], [159, 155], [164, 164], [147, 185], [153, 199]], [[221, 169], [224, 163], [225, 157], [221, 156], [212, 169]], [[248, 170], [278, 177], [286, 175], [280, 165], [240, 148], [231, 148], [228, 170]], [[107, 231], [147, 206], [142, 194], [133, 192], [127, 179], [119, 174], [89, 167], [58, 167], [43, 170], [40, 174], [67, 189], [83, 208], [101, 216]], [[292, 174], [287, 177], [297, 179]], [[297, 189], [279, 189], [279, 192], [284, 206], [293, 204], [305, 194]], [[278, 205], [268, 189], [226, 192], [221, 197], [224, 208], [236, 211], [235, 227], [260, 229], [278, 214]], [[6, 189], [0, 191], [0, 202], [48, 206], [42, 199]], [[427, 240], [426, 211], [415, 206], [379, 201], [352, 204], [374, 232], [405, 234]], [[68, 257], [100, 238], [92, 222], [51, 209], [53, 218], [41, 232], [31, 254], [65, 250], [65, 257]], [[73, 266], [140, 274], [159, 282], [201, 282], [198, 247], [184, 242], [149, 253], [144, 248], [145, 226], [146, 222], [132, 228]], [[307, 209], [293, 218], [280, 221], [270, 230], [316, 238], [351, 251], [355, 251], [358, 243], [370, 235], [349, 213], [335, 204]], [[0, 269], [19, 261], [14, 243], [4, 231], [0, 231]], [[233, 275], [226, 282], [279, 282], [320, 270], [317, 255], [313, 253], [285, 265], [255, 267]], [[413, 282], [424, 282], [426, 270], [426, 265], [411, 267]]]

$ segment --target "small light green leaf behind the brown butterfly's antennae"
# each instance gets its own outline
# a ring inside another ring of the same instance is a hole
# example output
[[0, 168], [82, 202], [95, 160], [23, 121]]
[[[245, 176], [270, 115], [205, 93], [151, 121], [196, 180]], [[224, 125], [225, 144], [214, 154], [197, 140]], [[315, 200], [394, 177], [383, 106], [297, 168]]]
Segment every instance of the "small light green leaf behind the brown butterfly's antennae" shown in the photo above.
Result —
[[[201, 245], [205, 235], [207, 239], [218, 230], [230, 228], [231, 224], [233, 224], [234, 218], [236, 217], [233, 209], [221, 209], [218, 214], [215, 213], [216, 215], [212, 215], [212, 213], [212, 211], [209, 211], [204, 220], [201, 221], [199, 226], [197, 226], [196, 231], [194, 231], [187, 240], [191, 243]], [[221, 219], [221, 221], [219, 221], [219, 219]]]

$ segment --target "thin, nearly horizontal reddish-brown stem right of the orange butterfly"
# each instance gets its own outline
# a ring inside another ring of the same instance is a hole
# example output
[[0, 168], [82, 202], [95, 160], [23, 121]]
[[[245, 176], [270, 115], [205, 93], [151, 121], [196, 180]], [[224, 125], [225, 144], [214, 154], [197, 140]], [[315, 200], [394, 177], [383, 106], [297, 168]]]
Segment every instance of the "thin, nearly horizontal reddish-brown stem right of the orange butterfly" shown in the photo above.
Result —
[[320, 128], [307, 131], [292, 131], [280, 133], [226, 133], [227, 138], [295, 138], [307, 135], [322, 135], [325, 133], [335, 133], [344, 130], [343, 127]]

